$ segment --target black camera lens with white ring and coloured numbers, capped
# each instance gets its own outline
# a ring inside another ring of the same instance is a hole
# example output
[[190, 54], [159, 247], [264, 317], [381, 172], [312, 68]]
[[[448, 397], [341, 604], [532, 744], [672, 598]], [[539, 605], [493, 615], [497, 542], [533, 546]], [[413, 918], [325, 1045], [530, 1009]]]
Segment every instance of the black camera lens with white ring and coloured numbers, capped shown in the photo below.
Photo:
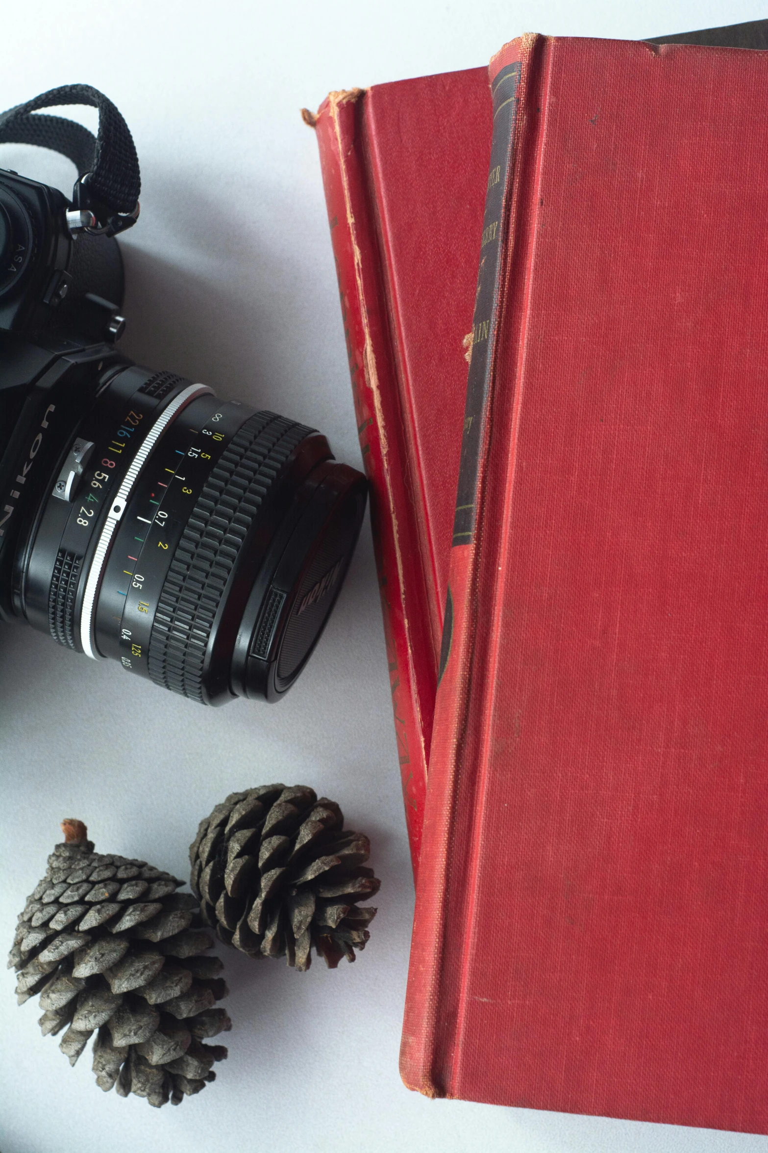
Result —
[[275, 701], [328, 619], [365, 500], [315, 430], [122, 368], [61, 446], [16, 603], [60, 645], [191, 700]]

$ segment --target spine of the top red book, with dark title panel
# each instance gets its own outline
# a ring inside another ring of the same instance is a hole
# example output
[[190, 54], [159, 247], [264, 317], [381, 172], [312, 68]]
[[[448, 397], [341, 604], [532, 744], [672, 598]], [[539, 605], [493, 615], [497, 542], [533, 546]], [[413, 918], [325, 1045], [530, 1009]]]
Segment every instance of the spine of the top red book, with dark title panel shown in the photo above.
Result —
[[[470, 849], [476, 782], [465, 748], [474, 668], [473, 612], [478, 540], [482, 536], [484, 469], [487, 459], [494, 361], [504, 323], [504, 285], [515, 259], [519, 214], [520, 152], [527, 136], [527, 90], [542, 37], [511, 42], [489, 69], [494, 128], [480, 266], [472, 325], [458, 490], [450, 557], [438, 694], [429, 759], [415, 933], [401, 1045], [401, 1076], [427, 1097], [450, 1097], [451, 1068], [461, 1049], [462, 972], [466, 957], [461, 924], [471, 889]], [[458, 927], [455, 941], [447, 925]]]

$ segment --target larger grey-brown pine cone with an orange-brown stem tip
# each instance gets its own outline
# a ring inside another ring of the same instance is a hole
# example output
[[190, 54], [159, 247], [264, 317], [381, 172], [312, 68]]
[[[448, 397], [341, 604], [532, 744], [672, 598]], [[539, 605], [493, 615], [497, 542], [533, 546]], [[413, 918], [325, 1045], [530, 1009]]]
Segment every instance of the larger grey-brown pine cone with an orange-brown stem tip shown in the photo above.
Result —
[[146, 861], [93, 852], [82, 821], [62, 821], [66, 841], [18, 918], [8, 967], [21, 970], [23, 1004], [40, 994], [43, 1035], [69, 1026], [59, 1048], [75, 1064], [92, 1033], [97, 1085], [178, 1105], [215, 1079], [223, 1046], [201, 1038], [231, 1028], [214, 1002], [227, 987], [199, 905], [183, 881]]

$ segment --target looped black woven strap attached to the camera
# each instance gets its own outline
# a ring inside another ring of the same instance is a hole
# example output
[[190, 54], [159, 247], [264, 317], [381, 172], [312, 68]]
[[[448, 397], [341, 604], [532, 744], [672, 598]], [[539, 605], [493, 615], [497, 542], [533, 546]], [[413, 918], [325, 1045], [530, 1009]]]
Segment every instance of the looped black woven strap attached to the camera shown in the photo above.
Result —
[[[38, 115], [40, 108], [85, 104], [99, 111], [98, 135], [63, 116]], [[92, 213], [89, 231], [114, 235], [138, 217], [142, 188], [138, 157], [128, 125], [107, 97], [90, 84], [63, 84], [0, 113], [0, 143], [37, 144], [61, 152], [77, 168], [76, 209]]]

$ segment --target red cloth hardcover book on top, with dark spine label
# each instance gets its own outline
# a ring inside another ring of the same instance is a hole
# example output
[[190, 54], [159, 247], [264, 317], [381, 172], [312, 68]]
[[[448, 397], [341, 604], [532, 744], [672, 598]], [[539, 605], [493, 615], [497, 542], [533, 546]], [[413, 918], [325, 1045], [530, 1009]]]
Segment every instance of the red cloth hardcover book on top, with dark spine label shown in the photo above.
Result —
[[768, 1132], [768, 55], [512, 42], [401, 1070]]

